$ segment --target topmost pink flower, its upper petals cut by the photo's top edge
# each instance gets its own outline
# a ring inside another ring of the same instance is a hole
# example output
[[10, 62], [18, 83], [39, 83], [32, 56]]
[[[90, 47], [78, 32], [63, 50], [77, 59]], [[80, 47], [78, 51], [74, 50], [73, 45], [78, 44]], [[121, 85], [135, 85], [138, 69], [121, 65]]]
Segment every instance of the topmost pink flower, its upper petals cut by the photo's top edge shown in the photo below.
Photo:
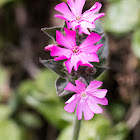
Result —
[[56, 14], [55, 17], [66, 20], [69, 29], [79, 28], [79, 33], [90, 34], [87, 28], [95, 28], [94, 21], [102, 16], [104, 13], [95, 14], [102, 6], [101, 3], [96, 2], [89, 10], [82, 14], [82, 9], [86, 0], [67, 0], [69, 8], [66, 3], [62, 2], [55, 6], [55, 10], [62, 13]]

